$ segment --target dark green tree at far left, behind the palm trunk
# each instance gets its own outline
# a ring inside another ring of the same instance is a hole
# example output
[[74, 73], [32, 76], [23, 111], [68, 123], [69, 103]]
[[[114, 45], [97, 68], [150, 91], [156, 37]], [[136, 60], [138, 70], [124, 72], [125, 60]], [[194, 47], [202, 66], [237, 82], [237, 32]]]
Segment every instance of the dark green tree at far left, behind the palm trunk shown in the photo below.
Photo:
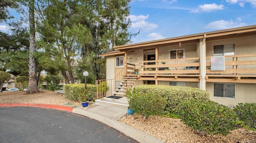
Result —
[[10, 33], [0, 32], [0, 70], [28, 75], [29, 33], [22, 21], [8, 23]]

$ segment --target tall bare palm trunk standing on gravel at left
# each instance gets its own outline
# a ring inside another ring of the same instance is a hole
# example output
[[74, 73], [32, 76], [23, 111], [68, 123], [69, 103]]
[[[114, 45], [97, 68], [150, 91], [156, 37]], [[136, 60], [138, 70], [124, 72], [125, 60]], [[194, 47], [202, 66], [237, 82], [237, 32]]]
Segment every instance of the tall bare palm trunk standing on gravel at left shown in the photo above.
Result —
[[35, 18], [34, 18], [34, 3], [35, 0], [30, 0], [28, 2], [29, 6], [29, 37], [30, 37], [30, 46], [29, 46], [29, 81], [28, 81], [28, 90], [27, 93], [37, 93], [39, 92], [37, 88], [37, 76], [36, 76], [36, 29], [35, 29]]

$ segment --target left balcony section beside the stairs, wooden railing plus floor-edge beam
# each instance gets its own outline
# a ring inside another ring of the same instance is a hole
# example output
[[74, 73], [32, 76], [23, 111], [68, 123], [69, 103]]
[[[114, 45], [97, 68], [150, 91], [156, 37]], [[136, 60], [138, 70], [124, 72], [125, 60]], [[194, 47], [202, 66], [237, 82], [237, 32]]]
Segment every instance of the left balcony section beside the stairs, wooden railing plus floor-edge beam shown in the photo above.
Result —
[[139, 76], [141, 80], [154, 80], [154, 78], [158, 78], [158, 80], [183, 78], [184, 81], [199, 82], [201, 78], [200, 58], [140, 61]]

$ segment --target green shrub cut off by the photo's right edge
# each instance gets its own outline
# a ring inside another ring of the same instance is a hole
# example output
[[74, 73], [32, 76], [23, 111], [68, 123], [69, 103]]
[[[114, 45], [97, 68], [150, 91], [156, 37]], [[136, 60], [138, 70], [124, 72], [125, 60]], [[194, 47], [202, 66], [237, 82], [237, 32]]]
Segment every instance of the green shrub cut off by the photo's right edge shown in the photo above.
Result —
[[256, 131], [256, 103], [238, 103], [234, 111], [246, 128]]

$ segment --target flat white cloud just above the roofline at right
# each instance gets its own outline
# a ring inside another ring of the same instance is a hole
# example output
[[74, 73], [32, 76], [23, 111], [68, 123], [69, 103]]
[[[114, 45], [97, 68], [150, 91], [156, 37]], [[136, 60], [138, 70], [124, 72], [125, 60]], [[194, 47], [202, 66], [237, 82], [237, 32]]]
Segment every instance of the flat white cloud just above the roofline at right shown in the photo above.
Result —
[[225, 21], [225, 20], [219, 20], [215, 22], [211, 22], [207, 24], [205, 28], [207, 29], [229, 29], [229, 28], [235, 28], [235, 27], [243, 27], [246, 26], [247, 24], [244, 22], [238, 23], [238, 22], [233, 22], [232, 20], [230, 21]]

